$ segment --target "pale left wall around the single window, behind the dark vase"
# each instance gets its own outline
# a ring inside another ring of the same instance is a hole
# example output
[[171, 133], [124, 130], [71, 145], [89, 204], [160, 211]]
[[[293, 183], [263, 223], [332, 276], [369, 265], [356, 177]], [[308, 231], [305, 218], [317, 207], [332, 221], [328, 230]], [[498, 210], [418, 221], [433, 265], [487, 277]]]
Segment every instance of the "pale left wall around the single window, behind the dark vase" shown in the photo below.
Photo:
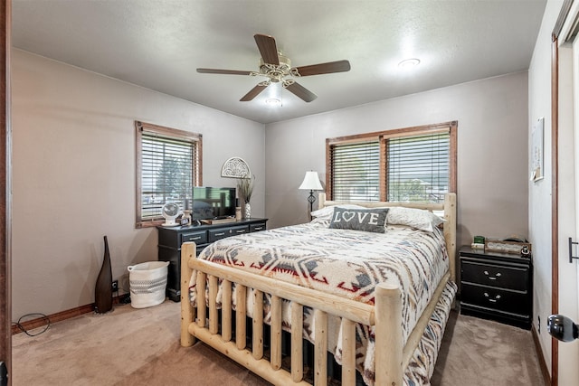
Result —
[[113, 277], [157, 259], [156, 229], [135, 229], [134, 120], [203, 134], [203, 182], [235, 186], [236, 155], [257, 175], [263, 216], [264, 127], [247, 119], [13, 50], [13, 315], [94, 301], [107, 235]]

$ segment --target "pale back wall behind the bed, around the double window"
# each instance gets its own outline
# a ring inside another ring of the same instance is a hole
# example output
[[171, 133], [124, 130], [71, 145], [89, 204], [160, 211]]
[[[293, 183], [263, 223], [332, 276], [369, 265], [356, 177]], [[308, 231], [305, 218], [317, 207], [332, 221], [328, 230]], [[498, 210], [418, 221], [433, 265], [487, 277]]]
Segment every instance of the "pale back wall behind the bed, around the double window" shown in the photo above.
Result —
[[[386, 87], [386, 86], [384, 86]], [[458, 121], [458, 242], [527, 236], [527, 71], [266, 126], [271, 227], [308, 220], [307, 170], [326, 179], [326, 138]]]

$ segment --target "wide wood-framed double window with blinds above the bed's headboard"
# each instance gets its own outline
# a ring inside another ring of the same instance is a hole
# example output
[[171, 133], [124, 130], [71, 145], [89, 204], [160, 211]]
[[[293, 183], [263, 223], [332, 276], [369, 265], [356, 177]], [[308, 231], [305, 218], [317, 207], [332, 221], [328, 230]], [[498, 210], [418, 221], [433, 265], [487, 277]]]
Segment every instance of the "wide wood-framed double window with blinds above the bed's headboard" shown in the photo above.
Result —
[[337, 201], [443, 202], [456, 192], [457, 122], [327, 139]]

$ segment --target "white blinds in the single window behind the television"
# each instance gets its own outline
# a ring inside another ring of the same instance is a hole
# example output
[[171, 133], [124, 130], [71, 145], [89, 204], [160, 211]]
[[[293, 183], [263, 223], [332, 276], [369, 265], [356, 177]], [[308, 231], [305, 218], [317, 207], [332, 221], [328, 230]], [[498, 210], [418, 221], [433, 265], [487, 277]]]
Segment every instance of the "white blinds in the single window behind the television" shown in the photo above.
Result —
[[192, 199], [197, 162], [195, 140], [143, 132], [141, 138], [141, 218], [161, 217], [166, 202], [185, 208]]

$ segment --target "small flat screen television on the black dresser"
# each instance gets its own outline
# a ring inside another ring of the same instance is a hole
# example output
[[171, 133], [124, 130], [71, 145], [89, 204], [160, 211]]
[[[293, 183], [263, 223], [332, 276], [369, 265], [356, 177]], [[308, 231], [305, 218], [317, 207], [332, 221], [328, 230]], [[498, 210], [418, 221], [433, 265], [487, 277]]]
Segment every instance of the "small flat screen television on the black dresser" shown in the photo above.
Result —
[[235, 188], [193, 187], [193, 220], [235, 216]]

